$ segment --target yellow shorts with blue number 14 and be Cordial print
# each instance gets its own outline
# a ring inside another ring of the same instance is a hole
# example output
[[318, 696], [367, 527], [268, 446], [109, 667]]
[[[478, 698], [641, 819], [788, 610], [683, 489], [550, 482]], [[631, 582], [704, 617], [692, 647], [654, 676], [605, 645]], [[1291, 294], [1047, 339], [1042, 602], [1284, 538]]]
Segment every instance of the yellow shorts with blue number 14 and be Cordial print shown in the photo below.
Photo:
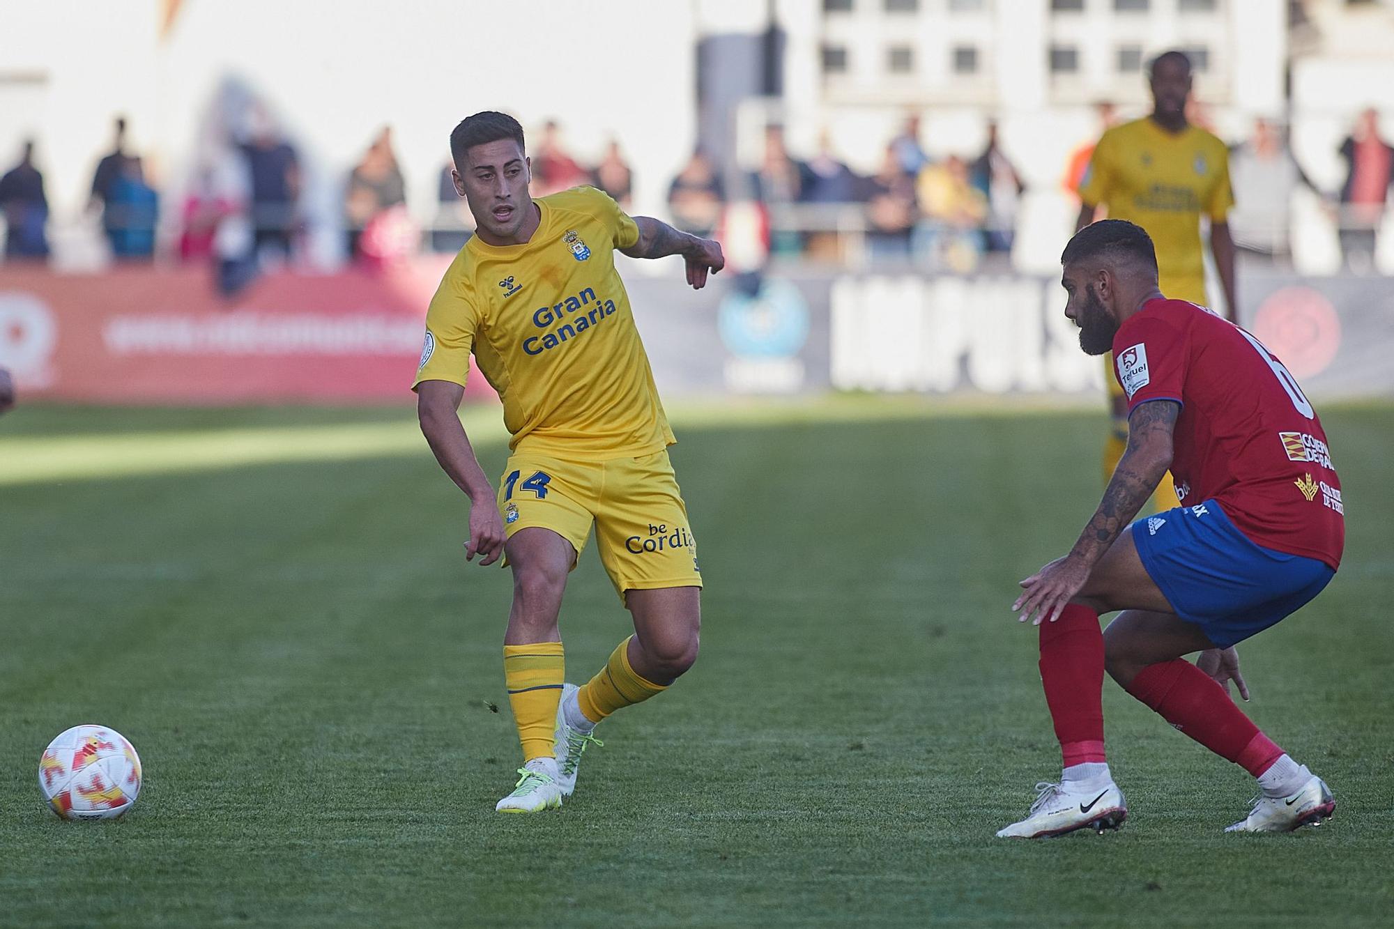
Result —
[[666, 451], [608, 462], [516, 453], [499, 481], [499, 512], [510, 538], [530, 526], [551, 529], [577, 558], [594, 523], [620, 600], [626, 590], [701, 587], [697, 540]]

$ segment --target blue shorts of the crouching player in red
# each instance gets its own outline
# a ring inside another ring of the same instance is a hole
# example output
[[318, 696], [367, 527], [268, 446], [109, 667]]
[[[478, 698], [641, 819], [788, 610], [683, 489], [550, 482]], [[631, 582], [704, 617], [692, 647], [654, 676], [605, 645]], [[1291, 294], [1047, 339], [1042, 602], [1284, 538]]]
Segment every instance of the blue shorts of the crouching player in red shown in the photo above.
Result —
[[1207, 499], [1132, 524], [1142, 566], [1177, 615], [1228, 649], [1301, 610], [1335, 572], [1249, 541]]

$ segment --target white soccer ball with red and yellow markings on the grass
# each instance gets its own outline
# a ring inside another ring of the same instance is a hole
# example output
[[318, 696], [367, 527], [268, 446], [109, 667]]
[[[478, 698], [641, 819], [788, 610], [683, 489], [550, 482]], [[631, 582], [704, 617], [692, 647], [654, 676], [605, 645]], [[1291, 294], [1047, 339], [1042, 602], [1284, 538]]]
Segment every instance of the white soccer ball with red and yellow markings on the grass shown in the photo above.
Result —
[[141, 794], [141, 756], [105, 725], [74, 725], [39, 759], [39, 790], [63, 819], [116, 819]]

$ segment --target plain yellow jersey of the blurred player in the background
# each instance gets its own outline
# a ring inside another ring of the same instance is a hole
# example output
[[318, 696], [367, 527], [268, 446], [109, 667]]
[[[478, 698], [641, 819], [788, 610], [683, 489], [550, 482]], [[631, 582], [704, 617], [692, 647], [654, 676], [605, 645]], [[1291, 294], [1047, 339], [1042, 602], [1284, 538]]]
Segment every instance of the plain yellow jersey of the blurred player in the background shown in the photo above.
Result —
[[1225, 222], [1234, 206], [1224, 142], [1196, 126], [1168, 133], [1151, 117], [1115, 126], [1094, 146], [1079, 195], [1147, 230], [1167, 297], [1209, 303], [1200, 216]]

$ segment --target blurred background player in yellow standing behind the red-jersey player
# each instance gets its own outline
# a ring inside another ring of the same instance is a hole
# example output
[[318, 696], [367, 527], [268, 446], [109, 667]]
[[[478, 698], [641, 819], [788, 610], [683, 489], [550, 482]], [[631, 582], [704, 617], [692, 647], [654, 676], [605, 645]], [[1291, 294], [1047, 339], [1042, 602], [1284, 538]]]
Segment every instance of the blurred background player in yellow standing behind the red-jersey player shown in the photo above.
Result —
[[[1186, 120], [1190, 99], [1190, 59], [1163, 52], [1149, 70], [1153, 110], [1140, 120], [1107, 130], [1094, 148], [1079, 186], [1079, 222], [1094, 222], [1104, 206], [1112, 219], [1126, 219], [1147, 230], [1157, 246], [1161, 290], [1174, 300], [1209, 307], [1200, 218], [1210, 219], [1210, 251], [1224, 287], [1225, 315], [1235, 318], [1234, 240], [1228, 215], [1230, 153], [1225, 144]], [[1128, 445], [1128, 413], [1122, 389], [1112, 377], [1112, 356], [1104, 357], [1110, 402], [1110, 434], [1104, 444], [1107, 481]], [[1153, 499], [1157, 509], [1177, 505], [1171, 474]]]

